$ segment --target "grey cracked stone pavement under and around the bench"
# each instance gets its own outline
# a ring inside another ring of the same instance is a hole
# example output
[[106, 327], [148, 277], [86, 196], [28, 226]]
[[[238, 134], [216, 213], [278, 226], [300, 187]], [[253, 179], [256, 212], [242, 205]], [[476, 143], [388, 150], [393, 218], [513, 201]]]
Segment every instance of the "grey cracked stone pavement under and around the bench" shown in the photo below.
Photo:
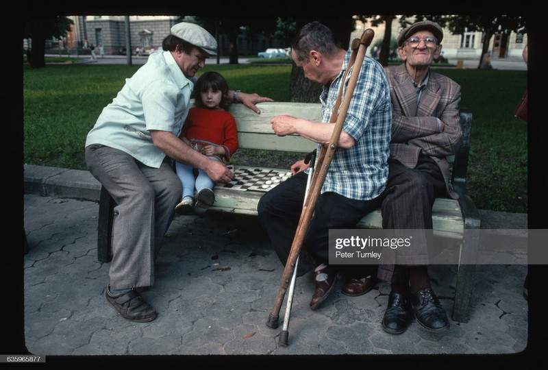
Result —
[[[285, 303], [279, 328], [267, 327], [266, 321], [282, 264], [256, 217], [215, 212], [175, 218], [158, 257], [155, 286], [143, 293], [158, 318], [132, 323], [119, 317], [104, 297], [110, 264], [97, 262], [97, 212], [95, 201], [25, 195], [24, 341], [31, 354], [99, 356], [91, 360], [114, 355], [376, 358], [510, 355], [528, 345], [528, 304], [522, 297], [527, 265], [521, 263], [477, 267], [469, 322], [451, 321], [447, 332], [437, 334], [413, 322], [397, 336], [380, 325], [388, 284], [379, 282], [366, 295], [347, 297], [340, 293], [339, 281], [337, 291], [313, 311], [308, 307], [314, 291], [308, 273], [295, 284], [288, 345], [279, 345]], [[432, 266], [429, 271], [450, 316], [456, 267]]]

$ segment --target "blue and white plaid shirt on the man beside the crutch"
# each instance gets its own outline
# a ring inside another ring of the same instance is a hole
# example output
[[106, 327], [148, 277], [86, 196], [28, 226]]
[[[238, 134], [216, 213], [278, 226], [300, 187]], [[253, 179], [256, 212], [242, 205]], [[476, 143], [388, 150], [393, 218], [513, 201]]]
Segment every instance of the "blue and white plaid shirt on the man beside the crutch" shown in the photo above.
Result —
[[[320, 96], [323, 122], [331, 119], [350, 55], [349, 49], [339, 75], [329, 88], [323, 87]], [[343, 99], [352, 73], [353, 67], [344, 82]], [[356, 145], [350, 149], [336, 149], [322, 193], [332, 191], [358, 200], [370, 200], [380, 195], [388, 178], [391, 126], [392, 106], [388, 79], [381, 64], [366, 57], [343, 123], [343, 130], [356, 140]], [[318, 153], [320, 151], [321, 145]]]

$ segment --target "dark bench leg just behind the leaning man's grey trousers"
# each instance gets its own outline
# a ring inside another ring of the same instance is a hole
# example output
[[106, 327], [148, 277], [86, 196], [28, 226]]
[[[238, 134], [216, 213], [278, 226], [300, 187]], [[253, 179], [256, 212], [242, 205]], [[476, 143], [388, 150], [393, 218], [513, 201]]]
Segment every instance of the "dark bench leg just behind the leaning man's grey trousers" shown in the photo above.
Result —
[[101, 186], [99, 199], [99, 221], [97, 223], [97, 260], [112, 260], [112, 223], [114, 223], [114, 206], [116, 202], [108, 191]]

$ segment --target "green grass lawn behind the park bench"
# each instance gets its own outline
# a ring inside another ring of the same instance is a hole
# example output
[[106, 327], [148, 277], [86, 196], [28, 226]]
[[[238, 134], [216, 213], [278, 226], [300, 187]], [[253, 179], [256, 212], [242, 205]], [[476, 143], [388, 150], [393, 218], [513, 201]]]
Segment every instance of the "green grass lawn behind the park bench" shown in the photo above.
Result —
[[[88, 131], [139, 67], [23, 66], [25, 163], [85, 170]], [[477, 208], [527, 212], [527, 123], [512, 114], [527, 86], [527, 72], [436, 67], [461, 85], [460, 107], [473, 111], [468, 188]], [[290, 65], [208, 64], [203, 71], [208, 70], [222, 73], [232, 88], [275, 101], [289, 99]], [[247, 159], [280, 159], [261, 151], [245, 154]]]

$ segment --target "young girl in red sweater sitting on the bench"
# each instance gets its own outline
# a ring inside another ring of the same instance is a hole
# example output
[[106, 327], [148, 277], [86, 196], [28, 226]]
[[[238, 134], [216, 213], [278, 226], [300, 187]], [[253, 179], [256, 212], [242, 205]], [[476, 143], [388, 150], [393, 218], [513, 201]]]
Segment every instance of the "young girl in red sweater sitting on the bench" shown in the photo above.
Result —
[[[190, 108], [179, 137], [209, 158], [230, 160], [238, 149], [238, 130], [234, 116], [227, 112], [230, 101], [226, 80], [217, 72], [203, 73], [196, 82], [195, 92], [196, 107]], [[183, 184], [182, 200], [175, 212], [205, 212], [215, 201], [214, 182], [204, 171], [186, 164], [176, 162], [175, 169]]]

